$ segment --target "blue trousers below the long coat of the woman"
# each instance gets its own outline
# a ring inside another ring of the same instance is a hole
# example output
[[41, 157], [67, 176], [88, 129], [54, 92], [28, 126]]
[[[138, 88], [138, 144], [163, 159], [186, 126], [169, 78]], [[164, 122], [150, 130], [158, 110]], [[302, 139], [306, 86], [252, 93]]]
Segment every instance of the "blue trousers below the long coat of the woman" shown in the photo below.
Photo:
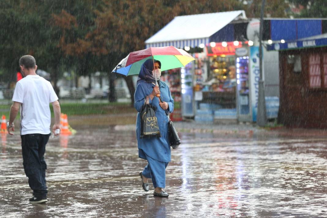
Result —
[[[146, 154], [145, 154], [146, 155]], [[154, 188], [166, 187], [166, 167], [169, 162], [161, 162], [146, 155], [147, 164], [142, 175], [151, 178]]]

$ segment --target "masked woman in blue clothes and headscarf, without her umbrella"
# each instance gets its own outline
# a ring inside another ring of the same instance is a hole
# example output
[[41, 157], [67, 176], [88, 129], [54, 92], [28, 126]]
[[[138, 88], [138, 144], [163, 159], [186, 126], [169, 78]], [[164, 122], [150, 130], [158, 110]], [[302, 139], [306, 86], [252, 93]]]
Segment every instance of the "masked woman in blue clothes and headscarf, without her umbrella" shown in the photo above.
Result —
[[[166, 83], [160, 81], [161, 62], [155, 59], [147, 59], [141, 67], [137, 87], [134, 94], [135, 109], [139, 112], [136, 120], [136, 136], [139, 149], [139, 158], [146, 159], [147, 165], [140, 172], [142, 187], [149, 191], [148, 178], [151, 178], [154, 186], [154, 196], [168, 197], [163, 189], [165, 188], [165, 169], [171, 160], [170, 146], [168, 140], [167, 111], [173, 112], [174, 100]], [[158, 84], [158, 85], [157, 85]], [[160, 94], [160, 98], [156, 97]], [[140, 112], [144, 104], [152, 104], [156, 107], [161, 137], [140, 138], [141, 116]]]

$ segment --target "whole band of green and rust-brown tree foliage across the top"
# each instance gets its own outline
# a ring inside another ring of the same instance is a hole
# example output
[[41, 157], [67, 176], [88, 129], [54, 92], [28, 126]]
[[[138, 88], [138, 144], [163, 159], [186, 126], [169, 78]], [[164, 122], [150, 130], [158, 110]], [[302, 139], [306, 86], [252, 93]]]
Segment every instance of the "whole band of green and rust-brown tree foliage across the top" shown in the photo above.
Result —
[[[0, 81], [15, 78], [18, 59], [33, 55], [39, 69], [57, 80], [60, 72], [110, 72], [129, 52], [175, 16], [245, 10], [259, 17], [261, 0], [2, 0], [0, 1]], [[294, 0], [310, 9], [303, 16], [326, 17], [325, 0]], [[267, 0], [266, 16], [285, 17], [284, 0]], [[302, 16], [302, 15], [301, 15]], [[172, 33], [173, 34], [173, 33]]]

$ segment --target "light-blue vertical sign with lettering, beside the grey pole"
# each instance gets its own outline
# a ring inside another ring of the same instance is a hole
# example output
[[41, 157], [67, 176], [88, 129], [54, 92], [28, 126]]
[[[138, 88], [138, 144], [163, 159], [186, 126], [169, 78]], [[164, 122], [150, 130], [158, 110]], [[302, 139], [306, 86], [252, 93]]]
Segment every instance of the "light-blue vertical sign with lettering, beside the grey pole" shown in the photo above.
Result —
[[259, 47], [250, 47], [250, 92], [252, 106], [252, 121], [257, 121], [258, 97], [259, 97], [259, 81], [260, 81], [260, 60]]

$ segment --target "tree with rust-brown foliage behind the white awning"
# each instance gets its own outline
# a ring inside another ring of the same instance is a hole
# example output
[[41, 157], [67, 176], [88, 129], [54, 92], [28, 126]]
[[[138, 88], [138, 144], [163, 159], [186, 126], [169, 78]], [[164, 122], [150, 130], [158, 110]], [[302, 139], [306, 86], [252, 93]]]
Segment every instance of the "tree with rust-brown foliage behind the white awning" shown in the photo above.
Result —
[[[90, 54], [104, 59], [101, 68], [107, 72], [131, 51], [145, 48], [145, 40], [159, 31], [177, 15], [216, 12], [240, 8], [238, 0], [218, 2], [192, 0], [103, 0], [102, 7], [96, 10], [95, 26], [84, 37], [62, 43], [66, 54]], [[62, 17], [62, 16], [59, 16]], [[69, 24], [66, 24], [69, 25]], [[73, 52], [71, 52], [73, 51]], [[125, 77], [134, 102], [134, 85], [131, 77]]]

